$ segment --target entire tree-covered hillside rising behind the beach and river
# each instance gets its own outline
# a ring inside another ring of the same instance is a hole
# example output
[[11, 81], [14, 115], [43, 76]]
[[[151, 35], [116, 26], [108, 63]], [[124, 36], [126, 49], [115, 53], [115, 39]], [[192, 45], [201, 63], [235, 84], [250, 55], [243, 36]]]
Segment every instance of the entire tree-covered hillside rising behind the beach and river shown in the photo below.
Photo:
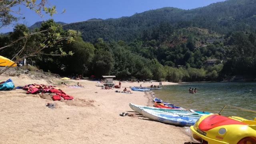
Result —
[[[34, 26], [32, 30], [17, 25], [14, 32], [0, 37], [0, 46], [51, 26], [58, 28], [58, 34], [69, 29], [81, 32], [74, 41], [53, 46], [72, 55], [38, 54], [28, 59], [44, 71], [174, 82], [222, 81], [234, 75], [254, 78], [256, 73], [256, 0], [227, 0], [193, 10], [161, 8], [63, 28], [53, 20]], [[47, 39], [47, 33], [27, 39], [30, 48], [37, 39]], [[13, 57], [24, 43], [0, 53]], [[44, 53], [56, 52], [51, 48]]]

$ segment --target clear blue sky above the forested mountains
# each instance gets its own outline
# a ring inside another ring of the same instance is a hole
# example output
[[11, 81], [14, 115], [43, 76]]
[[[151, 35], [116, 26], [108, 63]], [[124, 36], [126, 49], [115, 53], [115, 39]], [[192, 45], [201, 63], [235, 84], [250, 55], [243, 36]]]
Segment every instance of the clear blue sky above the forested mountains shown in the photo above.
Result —
[[[25, 7], [21, 7], [24, 20], [18, 21], [20, 24], [31, 26], [35, 22], [53, 18], [56, 22], [80, 22], [91, 18], [120, 18], [122, 16], [132, 16], [133, 14], [147, 10], [176, 7], [181, 9], [193, 9], [207, 6], [211, 3], [224, 0], [48, 0], [50, 5], [55, 5], [59, 13], [63, 9], [64, 14], [55, 14], [53, 17], [44, 15], [43, 18]], [[10, 32], [13, 26], [0, 29], [0, 32]]]

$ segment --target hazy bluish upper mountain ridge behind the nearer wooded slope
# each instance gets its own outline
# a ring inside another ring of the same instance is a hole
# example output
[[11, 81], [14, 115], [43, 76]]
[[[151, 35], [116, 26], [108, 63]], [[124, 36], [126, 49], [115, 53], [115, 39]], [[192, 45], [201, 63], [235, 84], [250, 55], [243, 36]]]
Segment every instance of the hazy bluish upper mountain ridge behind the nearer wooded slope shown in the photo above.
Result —
[[169, 23], [175, 29], [197, 27], [219, 34], [255, 31], [256, 0], [226, 0], [192, 10], [165, 7], [130, 17], [72, 23], [64, 26], [64, 29], [79, 30], [84, 41], [95, 41], [100, 37], [106, 41], [132, 41], [141, 36], [144, 30], [162, 23]]

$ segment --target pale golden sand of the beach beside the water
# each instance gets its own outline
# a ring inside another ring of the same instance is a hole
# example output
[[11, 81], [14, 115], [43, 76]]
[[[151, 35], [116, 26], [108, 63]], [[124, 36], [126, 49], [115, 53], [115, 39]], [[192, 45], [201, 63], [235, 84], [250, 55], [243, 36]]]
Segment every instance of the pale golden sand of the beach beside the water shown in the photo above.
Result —
[[[0, 81], [8, 78], [2, 75]], [[44, 79], [25, 76], [11, 78], [15, 86], [51, 84]], [[116, 89], [96, 87], [96, 81], [66, 82], [79, 82], [84, 86], [79, 89], [59, 86], [74, 96], [74, 101], [42, 99], [40, 95], [27, 95], [20, 89], [0, 91], [0, 144], [189, 144], [192, 141], [188, 127], [163, 124], [134, 113], [129, 103], [152, 106], [149, 93], [115, 93]], [[118, 90], [140, 84], [151, 85], [122, 82], [122, 88]], [[57, 107], [48, 108], [46, 103], [56, 103]], [[121, 112], [133, 116], [119, 116]]]

